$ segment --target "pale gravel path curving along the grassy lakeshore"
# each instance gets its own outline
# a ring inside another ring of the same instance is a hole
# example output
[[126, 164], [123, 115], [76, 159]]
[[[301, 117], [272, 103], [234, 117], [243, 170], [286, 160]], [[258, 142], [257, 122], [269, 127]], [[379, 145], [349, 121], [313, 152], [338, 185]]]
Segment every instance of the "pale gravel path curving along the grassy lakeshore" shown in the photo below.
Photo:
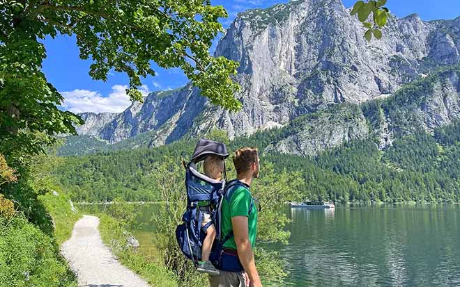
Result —
[[61, 252], [78, 275], [80, 287], [149, 287], [146, 281], [121, 265], [102, 243], [99, 218], [83, 215]]

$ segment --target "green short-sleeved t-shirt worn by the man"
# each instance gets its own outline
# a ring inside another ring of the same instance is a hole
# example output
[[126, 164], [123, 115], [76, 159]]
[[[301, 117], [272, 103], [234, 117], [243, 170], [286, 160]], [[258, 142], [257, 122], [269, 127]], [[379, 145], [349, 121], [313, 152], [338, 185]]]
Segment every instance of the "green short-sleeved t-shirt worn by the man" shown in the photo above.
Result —
[[[222, 238], [225, 238], [232, 230], [231, 218], [234, 216], [247, 216], [249, 240], [252, 247], [254, 247], [257, 234], [257, 208], [253, 204], [251, 213], [249, 213], [252, 201], [249, 186], [244, 183], [241, 183], [241, 186], [238, 186], [233, 192], [230, 202], [224, 197], [222, 202]], [[224, 247], [236, 249], [235, 238], [233, 236], [229, 238], [224, 243]]]

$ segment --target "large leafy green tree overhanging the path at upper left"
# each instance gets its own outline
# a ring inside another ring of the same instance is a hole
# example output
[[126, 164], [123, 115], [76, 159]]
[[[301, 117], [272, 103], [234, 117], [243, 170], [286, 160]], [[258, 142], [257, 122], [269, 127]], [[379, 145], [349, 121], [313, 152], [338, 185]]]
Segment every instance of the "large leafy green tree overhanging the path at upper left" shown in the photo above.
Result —
[[180, 67], [211, 103], [238, 110], [237, 63], [210, 56], [227, 17], [209, 0], [0, 0], [0, 152], [34, 154], [56, 133], [75, 134], [82, 120], [59, 110], [63, 97], [40, 69], [46, 56], [39, 39], [75, 35], [89, 74], [105, 81], [111, 69], [130, 79], [128, 95], [141, 100], [141, 77], [160, 67]]

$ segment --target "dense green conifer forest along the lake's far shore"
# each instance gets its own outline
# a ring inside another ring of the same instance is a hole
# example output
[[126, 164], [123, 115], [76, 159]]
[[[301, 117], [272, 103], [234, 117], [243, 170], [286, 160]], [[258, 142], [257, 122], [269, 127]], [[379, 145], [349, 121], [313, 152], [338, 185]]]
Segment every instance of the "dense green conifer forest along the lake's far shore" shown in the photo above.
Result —
[[[273, 133], [236, 138], [229, 149], [256, 145], [263, 150]], [[73, 199], [82, 202], [159, 199], [155, 166], [164, 157], [177, 164], [192, 154], [196, 141], [180, 140], [153, 149], [129, 149], [90, 156], [71, 156], [54, 174]], [[262, 153], [263, 165], [275, 172], [299, 172], [298, 192], [308, 199], [337, 202], [460, 202], [460, 123], [437, 129], [433, 136], [419, 131], [402, 136], [381, 151], [374, 139], [356, 140], [315, 157]], [[232, 169], [227, 160], [227, 169]]]

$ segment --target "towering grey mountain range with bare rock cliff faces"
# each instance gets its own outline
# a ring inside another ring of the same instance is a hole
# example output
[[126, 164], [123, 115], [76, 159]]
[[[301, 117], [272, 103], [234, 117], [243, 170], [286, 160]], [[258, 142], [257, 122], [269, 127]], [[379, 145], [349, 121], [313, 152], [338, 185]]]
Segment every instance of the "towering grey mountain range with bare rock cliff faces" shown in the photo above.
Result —
[[[157, 146], [215, 127], [226, 130], [230, 138], [250, 136], [316, 114], [305, 129], [274, 147], [314, 154], [374, 133], [365, 126], [363, 115], [350, 117], [347, 108], [337, 115], [343, 115], [342, 120], [328, 128], [319, 111], [389, 97], [439, 67], [460, 63], [460, 17], [431, 22], [417, 15], [391, 17], [382, 40], [366, 42], [363, 35], [362, 24], [340, 0], [300, 0], [247, 10], [238, 14], [215, 51], [216, 56], [240, 63], [235, 79], [242, 87], [236, 95], [243, 103], [240, 112], [211, 106], [199, 90], [186, 85], [154, 92], [144, 104], [134, 103], [117, 115], [88, 116], [79, 134], [115, 143], [148, 131], [148, 145]], [[454, 87], [454, 78], [446, 81]], [[411, 110], [417, 116], [432, 115], [430, 122], [425, 121], [427, 128], [446, 122], [440, 119], [458, 117], [442, 99], [459, 101], [459, 92], [444, 83], [440, 80], [431, 94], [436, 103]], [[385, 125], [378, 127], [382, 146], [390, 142], [393, 129], [388, 126], [393, 120], [385, 118]]]

